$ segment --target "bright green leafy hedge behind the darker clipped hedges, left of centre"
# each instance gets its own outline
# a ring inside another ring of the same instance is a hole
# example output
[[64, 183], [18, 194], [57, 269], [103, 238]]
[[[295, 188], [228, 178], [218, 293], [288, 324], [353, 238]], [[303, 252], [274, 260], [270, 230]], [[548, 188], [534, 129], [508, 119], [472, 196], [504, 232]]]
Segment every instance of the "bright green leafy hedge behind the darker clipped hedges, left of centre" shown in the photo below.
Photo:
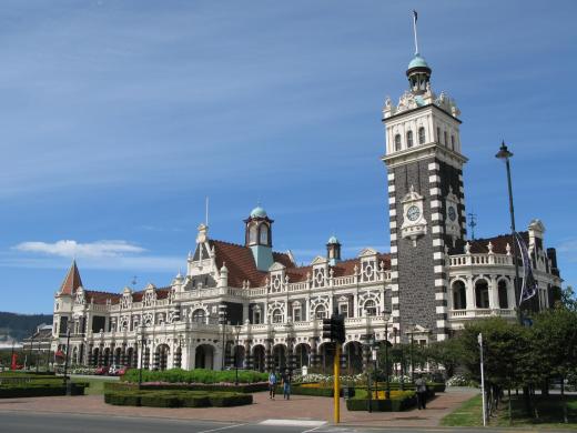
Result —
[[[140, 371], [132, 369], [122, 376], [125, 382], [138, 382]], [[239, 370], [239, 383], [257, 383], [265, 382], [269, 379], [267, 373], [261, 373], [252, 370]], [[163, 371], [142, 371], [143, 382], [169, 382], [169, 383], [234, 383], [236, 381], [235, 370], [182, 370], [170, 369]]]

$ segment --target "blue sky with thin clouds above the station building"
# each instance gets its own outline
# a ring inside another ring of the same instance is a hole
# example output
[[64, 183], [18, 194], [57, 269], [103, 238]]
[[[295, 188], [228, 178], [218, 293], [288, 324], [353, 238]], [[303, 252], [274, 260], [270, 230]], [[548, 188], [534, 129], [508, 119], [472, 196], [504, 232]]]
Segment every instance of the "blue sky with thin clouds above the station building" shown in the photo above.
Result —
[[[382, 107], [419, 51], [462, 110], [477, 238], [534, 219], [577, 283], [577, 2], [2, 1], [0, 311], [52, 312], [84, 286], [170, 284], [210, 198], [242, 243], [261, 203], [298, 263], [388, 251]], [[135, 276], [135, 279], [134, 279]]]

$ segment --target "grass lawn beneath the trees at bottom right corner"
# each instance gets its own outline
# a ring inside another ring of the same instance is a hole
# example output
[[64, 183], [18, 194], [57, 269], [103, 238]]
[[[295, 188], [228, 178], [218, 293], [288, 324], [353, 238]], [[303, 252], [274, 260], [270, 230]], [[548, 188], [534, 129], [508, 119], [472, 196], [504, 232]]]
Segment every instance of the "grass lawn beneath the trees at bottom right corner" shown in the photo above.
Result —
[[[441, 425], [445, 426], [479, 426], [483, 425], [482, 415], [482, 397], [476, 395], [470, 400], [467, 400], [453, 413], [441, 420]], [[513, 426], [514, 427], [539, 427], [539, 429], [577, 429], [577, 396], [570, 395], [567, 397], [567, 413], [568, 424], [563, 422], [563, 405], [560, 395], [537, 395], [534, 401], [539, 415], [538, 420], [533, 416], [528, 416], [525, 412], [525, 405], [523, 395], [512, 395], [512, 413], [513, 413]], [[507, 397], [499, 406], [499, 411], [496, 417], [489, 420], [488, 425], [508, 427], [509, 426], [509, 414]]]

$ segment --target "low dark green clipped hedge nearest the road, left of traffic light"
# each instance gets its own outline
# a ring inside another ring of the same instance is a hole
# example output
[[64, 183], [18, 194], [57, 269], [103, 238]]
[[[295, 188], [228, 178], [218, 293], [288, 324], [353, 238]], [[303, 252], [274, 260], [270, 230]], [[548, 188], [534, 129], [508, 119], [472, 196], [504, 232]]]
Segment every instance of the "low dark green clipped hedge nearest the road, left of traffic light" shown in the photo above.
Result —
[[229, 407], [252, 404], [251, 394], [203, 391], [114, 391], [104, 393], [104, 402], [120, 406]]

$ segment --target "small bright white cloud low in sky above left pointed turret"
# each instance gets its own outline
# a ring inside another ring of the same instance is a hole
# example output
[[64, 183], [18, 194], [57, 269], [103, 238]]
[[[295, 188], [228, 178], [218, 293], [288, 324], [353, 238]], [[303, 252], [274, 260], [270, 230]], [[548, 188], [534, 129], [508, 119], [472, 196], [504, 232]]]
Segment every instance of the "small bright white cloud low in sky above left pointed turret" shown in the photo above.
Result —
[[30, 253], [43, 253], [63, 258], [118, 258], [124, 254], [138, 254], [145, 249], [126, 241], [95, 241], [80, 243], [73, 240], [63, 240], [54, 243], [22, 242], [13, 246], [14, 250]]

